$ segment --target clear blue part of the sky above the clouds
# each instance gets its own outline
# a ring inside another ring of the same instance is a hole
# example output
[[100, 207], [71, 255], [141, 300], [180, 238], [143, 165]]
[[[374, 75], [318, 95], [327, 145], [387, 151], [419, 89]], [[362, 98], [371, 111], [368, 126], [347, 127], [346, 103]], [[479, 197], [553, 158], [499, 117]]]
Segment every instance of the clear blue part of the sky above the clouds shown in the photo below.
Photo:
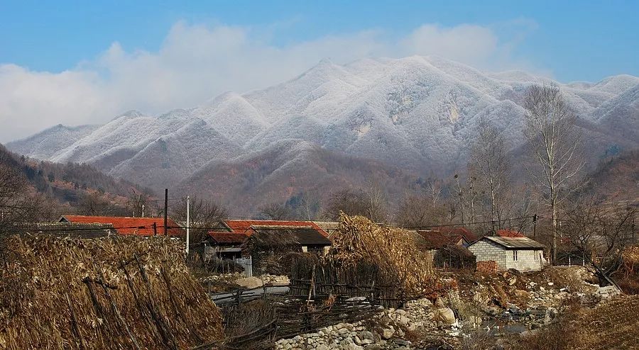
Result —
[[[530, 21], [515, 53], [561, 81], [639, 75], [639, 1], [1, 1], [0, 62], [60, 72], [117, 41], [158, 50], [177, 21], [270, 30], [275, 45], [423, 23]], [[503, 33], [518, 35], [519, 33]]]

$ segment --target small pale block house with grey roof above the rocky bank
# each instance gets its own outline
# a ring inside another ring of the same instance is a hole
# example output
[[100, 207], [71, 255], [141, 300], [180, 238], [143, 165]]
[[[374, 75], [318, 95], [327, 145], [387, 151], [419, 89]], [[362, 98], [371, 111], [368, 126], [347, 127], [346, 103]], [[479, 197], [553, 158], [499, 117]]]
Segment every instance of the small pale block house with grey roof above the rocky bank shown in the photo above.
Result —
[[468, 246], [481, 261], [495, 261], [498, 270], [539, 271], [545, 266], [545, 246], [528, 237], [484, 236]]

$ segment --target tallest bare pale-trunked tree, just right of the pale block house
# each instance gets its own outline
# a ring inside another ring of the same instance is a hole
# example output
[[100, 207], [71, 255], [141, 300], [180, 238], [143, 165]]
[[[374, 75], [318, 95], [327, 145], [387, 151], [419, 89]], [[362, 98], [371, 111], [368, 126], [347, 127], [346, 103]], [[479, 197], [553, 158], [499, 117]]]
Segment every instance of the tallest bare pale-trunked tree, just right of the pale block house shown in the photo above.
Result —
[[525, 96], [525, 135], [540, 171], [530, 171], [550, 207], [552, 261], [557, 259], [557, 209], [576, 189], [577, 174], [584, 167], [579, 154], [581, 135], [575, 128], [577, 115], [567, 105], [559, 88], [532, 86]]

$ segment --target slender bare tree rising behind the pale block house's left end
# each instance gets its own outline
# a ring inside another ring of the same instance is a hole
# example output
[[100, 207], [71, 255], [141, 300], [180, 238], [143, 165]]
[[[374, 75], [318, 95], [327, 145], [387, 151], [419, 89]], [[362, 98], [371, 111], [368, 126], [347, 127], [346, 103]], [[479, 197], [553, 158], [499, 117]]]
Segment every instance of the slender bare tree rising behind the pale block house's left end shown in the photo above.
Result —
[[506, 141], [501, 131], [486, 118], [478, 123], [479, 136], [472, 149], [471, 162], [479, 173], [478, 180], [488, 191], [491, 221], [501, 222], [501, 194], [510, 176], [510, 162]]

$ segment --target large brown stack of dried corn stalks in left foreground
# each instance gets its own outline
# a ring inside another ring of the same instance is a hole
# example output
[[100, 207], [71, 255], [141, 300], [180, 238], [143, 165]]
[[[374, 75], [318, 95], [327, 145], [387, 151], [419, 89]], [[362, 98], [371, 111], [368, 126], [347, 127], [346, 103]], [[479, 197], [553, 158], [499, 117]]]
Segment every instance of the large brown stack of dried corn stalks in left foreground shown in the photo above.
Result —
[[13, 236], [0, 263], [0, 349], [187, 349], [222, 318], [165, 237]]

